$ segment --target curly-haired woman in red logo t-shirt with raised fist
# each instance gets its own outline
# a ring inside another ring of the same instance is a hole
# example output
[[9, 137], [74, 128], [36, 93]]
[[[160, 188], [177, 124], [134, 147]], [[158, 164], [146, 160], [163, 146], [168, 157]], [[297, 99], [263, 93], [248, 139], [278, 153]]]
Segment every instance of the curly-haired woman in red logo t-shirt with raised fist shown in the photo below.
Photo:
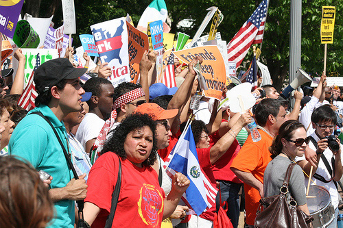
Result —
[[110, 214], [119, 159], [121, 189], [112, 227], [161, 227], [161, 221], [174, 212], [189, 180], [176, 173], [165, 198], [151, 167], [157, 154], [155, 129], [156, 123], [147, 114], [132, 114], [104, 145], [89, 173], [84, 199], [84, 220], [92, 227], [104, 227]]

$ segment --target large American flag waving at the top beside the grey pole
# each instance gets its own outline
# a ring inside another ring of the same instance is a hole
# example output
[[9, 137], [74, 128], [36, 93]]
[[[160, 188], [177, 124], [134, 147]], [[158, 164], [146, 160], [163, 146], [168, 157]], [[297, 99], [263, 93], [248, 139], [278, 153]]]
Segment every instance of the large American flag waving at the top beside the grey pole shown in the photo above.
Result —
[[228, 43], [228, 61], [235, 61], [236, 68], [241, 64], [251, 45], [259, 44], [263, 39], [265, 17], [267, 16], [267, 0], [263, 0]]

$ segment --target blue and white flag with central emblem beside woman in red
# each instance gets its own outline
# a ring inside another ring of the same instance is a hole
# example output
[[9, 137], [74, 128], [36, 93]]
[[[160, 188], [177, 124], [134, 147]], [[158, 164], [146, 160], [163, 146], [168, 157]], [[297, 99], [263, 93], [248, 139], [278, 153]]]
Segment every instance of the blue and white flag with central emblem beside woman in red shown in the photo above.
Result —
[[178, 172], [187, 176], [191, 181], [186, 192], [182, 195], [182, 201], [197, 215], [202, 214], [215, 204], [217, 188], [213, 187], [208, 177], [202, 173], [191, 125], [180, 136], [169, 154], [165, 166], [169, 177], [174, 177], [175, 173]]

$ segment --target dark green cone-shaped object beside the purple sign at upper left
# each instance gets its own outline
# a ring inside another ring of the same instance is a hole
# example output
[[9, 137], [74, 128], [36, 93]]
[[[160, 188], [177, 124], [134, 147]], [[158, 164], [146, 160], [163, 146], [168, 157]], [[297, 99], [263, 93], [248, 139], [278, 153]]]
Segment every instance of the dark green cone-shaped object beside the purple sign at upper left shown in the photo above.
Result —
[[18, 21], [13, 41], [21, 48], [36, 48], [40, 42], [37, 32], [25, 20]]

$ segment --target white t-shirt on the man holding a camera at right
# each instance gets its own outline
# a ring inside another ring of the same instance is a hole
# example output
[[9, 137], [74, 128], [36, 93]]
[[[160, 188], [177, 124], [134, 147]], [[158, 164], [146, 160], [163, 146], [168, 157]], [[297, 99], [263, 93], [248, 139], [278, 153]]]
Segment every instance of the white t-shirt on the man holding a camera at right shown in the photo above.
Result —
[[[316, 133], [311, 134], [311, 136], [316, 140], [316, 142], [319, 141], [318, 136], [316, 135]], [[342, 144], [340, 145], [340, 147], [342, 148]], [[316, 147], [314, 146], [314, 144], [310, 141], [309, 142], [309, 148], [313, 149], [314, 151], [316, 151]], [[329, 149], [329, 147], [327, 149], [325, 149], [324, 153], [321, 155], [325, 156], [327, 158], [327, 161], [329, 162], [329, 165], [332, 169], [332, 165], [331, 165], [331, 157], [333, 156], [331, 150]], [[343, 157], [341, 157], [341, 162], [343, 163]], [[295, 161], [302, 161], [305, 160], [305, 155], [303, 155], [302, 157], [296, 157]], [[316, 173], [321, 175], [322, 177], [324, 177], [324, 179], [331, 179], [331, 175], [329, 173], [329, 171], [327, 170], [327, 167], [325, 166], [324, 162], [322, 161], [322, 159], [319, 160], [319, 164], [318, 164], [318, 168], [316, 170]], [[326, 188], [331, 196], [331, 203], [333, 205], [333, 207], [337, 208], [338, 207], [338, 201], [340, 200], [340, 195], [338, 194], [338, 190], [335, 187], [335, 183], [333, 183], [333, 181], [330, 181], [329, 183], [324, 183], [314, 177], [312, 177], [312, 180], [314, 181], [314, 183], [311, 181], [311, 185], [317, 185], [317, 186], [322, 186], [324, 188]], [[305, 177], [305, 186], [307, 186], [307, 183], [309, 183], [309, 179], [307, 177]]]

